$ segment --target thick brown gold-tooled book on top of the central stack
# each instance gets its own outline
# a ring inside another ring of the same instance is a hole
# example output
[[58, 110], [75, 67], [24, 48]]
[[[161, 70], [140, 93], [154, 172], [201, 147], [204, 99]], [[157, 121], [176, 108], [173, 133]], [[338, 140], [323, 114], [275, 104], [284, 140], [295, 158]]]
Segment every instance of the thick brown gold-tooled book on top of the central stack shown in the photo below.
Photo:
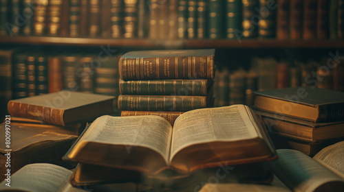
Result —
[[122, 80], [212, 79], [215, 49], [130, 51], [119, 62]]

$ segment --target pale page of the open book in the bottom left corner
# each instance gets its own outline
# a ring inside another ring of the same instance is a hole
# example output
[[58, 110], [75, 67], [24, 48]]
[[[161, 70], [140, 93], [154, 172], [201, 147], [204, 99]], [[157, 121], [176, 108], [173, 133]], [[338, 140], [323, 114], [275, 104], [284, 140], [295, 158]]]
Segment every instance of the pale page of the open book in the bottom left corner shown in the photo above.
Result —
[[[0, 184], [1, 190], [22, 190], [22, 191], [45, 191], [45, 192], [71, 192], [65, 191], [65, 187], [70, 185], [68, 180], [72, 171], [63, 167], [36, 163], [26, 165], [12, 175], [10, 187], [6, 186], [6, 180]], [[83, 191], [71, 187], [72, 191]]]

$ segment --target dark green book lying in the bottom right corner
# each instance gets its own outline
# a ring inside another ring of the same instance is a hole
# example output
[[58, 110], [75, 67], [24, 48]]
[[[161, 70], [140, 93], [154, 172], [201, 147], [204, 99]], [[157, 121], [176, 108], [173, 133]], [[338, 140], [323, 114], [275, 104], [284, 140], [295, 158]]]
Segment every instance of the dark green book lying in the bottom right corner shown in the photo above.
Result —
[[277, 149], [279, 158], [266, 162], [292, 191], [314, 191], [332, 182], [344, 190], [344, 180], [309, 156], [292, 149]]

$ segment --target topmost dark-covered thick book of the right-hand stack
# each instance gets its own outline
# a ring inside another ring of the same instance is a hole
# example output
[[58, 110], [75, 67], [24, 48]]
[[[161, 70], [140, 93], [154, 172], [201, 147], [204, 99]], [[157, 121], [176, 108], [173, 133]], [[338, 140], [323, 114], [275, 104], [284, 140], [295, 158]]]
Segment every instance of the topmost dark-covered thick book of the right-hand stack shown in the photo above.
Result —
[[292, 87], [255, 93], [255, 108], [313, 122], [344, 120], [344, 93]]

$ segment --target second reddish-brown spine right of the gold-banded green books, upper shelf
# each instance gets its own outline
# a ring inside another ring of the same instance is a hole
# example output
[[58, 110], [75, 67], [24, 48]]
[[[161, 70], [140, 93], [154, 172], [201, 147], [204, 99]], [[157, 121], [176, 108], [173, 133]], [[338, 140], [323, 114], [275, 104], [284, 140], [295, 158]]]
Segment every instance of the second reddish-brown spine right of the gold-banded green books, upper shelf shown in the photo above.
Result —
[[303, 0], [290, 0], [290, 38], [302, 38]]

